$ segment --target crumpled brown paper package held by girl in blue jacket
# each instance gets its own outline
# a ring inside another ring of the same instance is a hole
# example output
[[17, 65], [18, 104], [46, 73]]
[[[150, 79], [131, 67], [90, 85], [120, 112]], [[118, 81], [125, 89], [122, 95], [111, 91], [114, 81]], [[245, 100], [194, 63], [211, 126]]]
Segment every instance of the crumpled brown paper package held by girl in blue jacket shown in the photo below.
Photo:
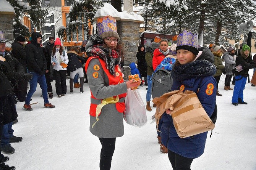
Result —
[[171, 91], [160, 98], [154, 98], [153, 103], [157, 104], [157, 123], [160, 115], [167, 109], [171, 110], [173, 124], [180, 138], [207, 132], [215, 127], [193, 91]]

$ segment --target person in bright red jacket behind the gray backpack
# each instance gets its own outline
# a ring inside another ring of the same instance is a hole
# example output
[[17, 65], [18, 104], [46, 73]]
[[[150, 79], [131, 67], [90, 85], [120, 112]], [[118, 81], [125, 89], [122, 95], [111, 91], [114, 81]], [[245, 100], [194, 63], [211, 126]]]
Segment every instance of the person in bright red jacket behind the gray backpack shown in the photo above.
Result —
[[153, 53], [152, 65], [153, 69], [156, 70], [156, 67], [164, 60], [164, 58], [169, 54], [168, 47], [168, 40], [161, 39], [160, 42], [160, 49], [156, 49]]

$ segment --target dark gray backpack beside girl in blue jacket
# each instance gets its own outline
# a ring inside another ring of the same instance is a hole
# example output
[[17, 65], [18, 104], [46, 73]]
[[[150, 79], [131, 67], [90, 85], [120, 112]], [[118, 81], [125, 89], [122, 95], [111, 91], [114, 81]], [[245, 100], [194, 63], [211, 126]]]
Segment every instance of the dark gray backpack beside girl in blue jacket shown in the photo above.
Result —
[[152, 75], [152, 98], [160, 97], [164, 93], [170, 92], [172, 88], [173, 79], [171, 72], [166, 69], [158, 69]]

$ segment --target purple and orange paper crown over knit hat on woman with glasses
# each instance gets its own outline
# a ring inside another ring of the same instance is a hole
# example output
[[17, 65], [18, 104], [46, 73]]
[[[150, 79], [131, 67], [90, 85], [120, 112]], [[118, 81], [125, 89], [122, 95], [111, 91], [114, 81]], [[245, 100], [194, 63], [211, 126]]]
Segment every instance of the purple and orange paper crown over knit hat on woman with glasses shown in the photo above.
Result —
[[115, 37], [120, 40], [117, 33], [117, 22], [112, 16], [97, 19], [97, 29], [101, 38]]

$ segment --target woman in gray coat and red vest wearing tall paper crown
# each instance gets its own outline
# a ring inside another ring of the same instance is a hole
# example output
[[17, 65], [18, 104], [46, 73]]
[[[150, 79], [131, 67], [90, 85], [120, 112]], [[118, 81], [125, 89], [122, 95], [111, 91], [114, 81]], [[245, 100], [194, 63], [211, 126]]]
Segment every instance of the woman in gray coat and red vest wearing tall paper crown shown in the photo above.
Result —
[[100, 170], [110, 170], [115, 140], [124, 133], [127, 89], [139, 86], [140, 81], [123, 81], [123, 73], [118, 66], [122, 50], [118, 44], [120, 37], [115, 19], [112, 16], [99, 18], [97, 28], [99, 35], [92, 35], [86, 45], [89, 59], [85, 70], [91, 90], [90, 132], [99, 137], [102, 145]]

